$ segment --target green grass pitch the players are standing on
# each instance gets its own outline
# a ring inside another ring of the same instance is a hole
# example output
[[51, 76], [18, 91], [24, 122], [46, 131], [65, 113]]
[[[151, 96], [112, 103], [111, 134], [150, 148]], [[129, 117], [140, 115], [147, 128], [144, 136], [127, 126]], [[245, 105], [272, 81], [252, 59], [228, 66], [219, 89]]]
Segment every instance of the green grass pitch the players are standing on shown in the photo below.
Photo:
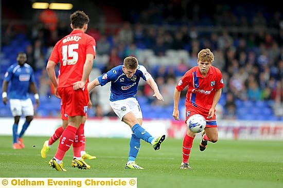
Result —
[[[182, 142], [166, 139], [160, 151], [141, 141], [136, 162], [145, 170], [123, 169], [128, 159], [129, 139], [86, 138], [86, 150], [97, 156], [86, 160], [90, 170], [72, 168], [73, 149], [64, 158], [67, 172], [48, 166], [58, 142], [46, 159], [40, 149], [47, 137], [24, 137], [25, 149], [12, 149], [12, 137], [0, 137], [0, 177], [136, 177], [137, 187], [283, 187], [283, 142], [219, 140], [199, 151], [200, 140], [193, 143], [192, 170], [180, 170]], [[35, 147], [33, 147], [35, 145]]]

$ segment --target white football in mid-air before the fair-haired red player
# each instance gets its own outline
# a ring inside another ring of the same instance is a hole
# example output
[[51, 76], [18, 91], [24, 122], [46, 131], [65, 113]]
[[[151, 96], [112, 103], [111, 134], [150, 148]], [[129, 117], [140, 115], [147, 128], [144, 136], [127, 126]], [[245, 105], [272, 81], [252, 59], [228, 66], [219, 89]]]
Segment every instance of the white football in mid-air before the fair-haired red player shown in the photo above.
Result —
[[200, 114], [194, 114], [187, 120], [187, 125], [193, 133], [200, 133], [206, 125], [205, 118]]

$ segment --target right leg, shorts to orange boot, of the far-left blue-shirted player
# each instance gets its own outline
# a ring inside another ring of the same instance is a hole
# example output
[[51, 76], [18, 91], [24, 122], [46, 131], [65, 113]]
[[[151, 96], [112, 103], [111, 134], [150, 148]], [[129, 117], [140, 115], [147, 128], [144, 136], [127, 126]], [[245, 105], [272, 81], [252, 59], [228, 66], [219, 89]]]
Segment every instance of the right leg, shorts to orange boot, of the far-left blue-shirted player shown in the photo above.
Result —
[[20, 143], [21, 147], [24, 148], [25, 145], [22, 137], [24, 136], [25, 131], [27, 130], [30, 122], [33, 119], [34, 110], [30, 99], [21, 100], [21, 106], [22, 106], [23, 115], [26, 117], [26, 121], [22, 126], [22, 130], [21, 133], [19, 134], [18, 142]]

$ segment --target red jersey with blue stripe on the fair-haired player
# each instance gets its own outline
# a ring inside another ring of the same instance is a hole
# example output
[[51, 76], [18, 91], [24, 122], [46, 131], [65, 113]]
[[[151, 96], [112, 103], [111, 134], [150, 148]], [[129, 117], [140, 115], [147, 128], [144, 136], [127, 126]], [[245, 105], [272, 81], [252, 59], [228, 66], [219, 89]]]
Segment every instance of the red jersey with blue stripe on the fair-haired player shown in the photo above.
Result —
[[203, 77], [198, 66], [192, 67], [180, 79], [176, 89], [181, 91], [186, 86], [188, 86], [188, 92], [185, 106], [209, 111], [215, 91], [224, 87], [222, 73], [218, 68], [210, 66], [207, 76]]

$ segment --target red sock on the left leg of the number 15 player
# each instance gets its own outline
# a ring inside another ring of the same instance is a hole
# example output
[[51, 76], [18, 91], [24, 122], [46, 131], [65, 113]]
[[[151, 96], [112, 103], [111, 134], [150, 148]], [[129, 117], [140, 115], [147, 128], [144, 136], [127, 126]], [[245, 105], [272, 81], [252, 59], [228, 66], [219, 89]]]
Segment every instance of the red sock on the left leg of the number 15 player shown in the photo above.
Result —
[[77, 133], [76, 127], [68, 125], [65, 128], [60, 138], [60, 143], [57, 152], [55, 154], [56, 159], [62, 160], [64, 158], [65, 153], [68, 151], [68, 149], [75, 140], [76, 133]]

